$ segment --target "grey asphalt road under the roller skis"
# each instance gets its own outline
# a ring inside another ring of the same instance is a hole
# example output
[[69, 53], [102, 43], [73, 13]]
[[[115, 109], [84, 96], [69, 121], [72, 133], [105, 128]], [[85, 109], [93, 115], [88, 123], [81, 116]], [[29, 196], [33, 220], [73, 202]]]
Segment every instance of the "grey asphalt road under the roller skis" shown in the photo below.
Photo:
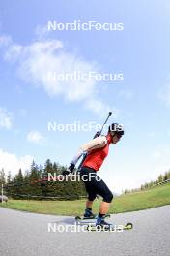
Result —
[[170, 206], [116, 214], [109, 221], [133, 222], [134, 228], [117, 233], [71, 232], [73, 217], [0, 208], [0, 255], [170, 256]]

